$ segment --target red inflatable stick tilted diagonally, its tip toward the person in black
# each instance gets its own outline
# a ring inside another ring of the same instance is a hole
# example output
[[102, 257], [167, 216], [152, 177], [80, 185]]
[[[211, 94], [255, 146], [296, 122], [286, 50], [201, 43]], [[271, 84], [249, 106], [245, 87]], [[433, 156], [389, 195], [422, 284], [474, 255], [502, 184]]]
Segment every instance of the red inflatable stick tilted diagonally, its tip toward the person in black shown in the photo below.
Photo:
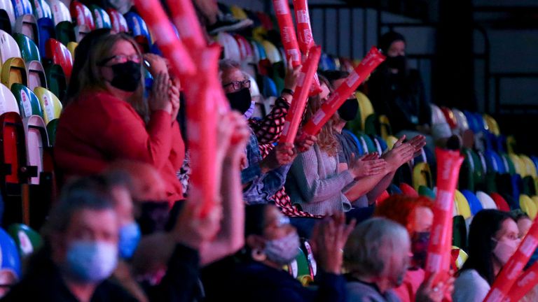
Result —
[[322, 129], [324, 124], [336, 113], [336, 110], [342, 106], [345, 100], [364, 82], [368, 75], [385, 61], [385, 56], [381, 55], [378, 48], [371, 48], [368, 55], [362, 59], [361, 64], [345, 79], [345, 81], [336, 88], [331, 97], [323, 104], [322, 108], [305, 125], [303, 131], [305, 134], [316, 135]]

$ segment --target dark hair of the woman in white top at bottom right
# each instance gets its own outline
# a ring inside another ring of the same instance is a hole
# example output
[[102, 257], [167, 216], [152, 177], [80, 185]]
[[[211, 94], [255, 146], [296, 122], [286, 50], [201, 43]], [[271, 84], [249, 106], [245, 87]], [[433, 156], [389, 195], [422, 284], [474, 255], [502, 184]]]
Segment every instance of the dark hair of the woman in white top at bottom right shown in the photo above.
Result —
[[492, 238], [502, 227], [505, 220], [513, 220], [509, 213], [499, 210], [481, 210], [476, 213], [469, 227], [469, 259], [462, 271], [474, 269], [490, 285], [495, 280], [492, 254], [495, 242]]

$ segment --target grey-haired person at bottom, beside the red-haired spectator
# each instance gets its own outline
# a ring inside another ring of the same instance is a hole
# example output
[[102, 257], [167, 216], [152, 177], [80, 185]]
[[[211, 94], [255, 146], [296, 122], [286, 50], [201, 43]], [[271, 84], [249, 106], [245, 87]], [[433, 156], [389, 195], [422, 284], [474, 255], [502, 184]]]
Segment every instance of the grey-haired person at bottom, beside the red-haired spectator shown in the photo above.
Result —
[[[400, 224], [385, 218], [361, 222], [344, 247], [347, 301], [400, 301], [394, 293], [406, 275], [411, 243]], [[432, 275], [418, 289], [413, 301], [439, 301], [453, 289], [454, 279], [434, 285]]]

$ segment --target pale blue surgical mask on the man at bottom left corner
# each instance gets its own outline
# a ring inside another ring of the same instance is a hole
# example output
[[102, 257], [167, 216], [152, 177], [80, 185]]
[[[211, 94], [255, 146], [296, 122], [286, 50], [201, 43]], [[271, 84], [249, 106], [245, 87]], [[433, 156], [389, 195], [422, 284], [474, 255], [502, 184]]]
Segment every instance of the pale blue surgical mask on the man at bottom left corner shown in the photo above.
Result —
[[118, 264], [118, 247], [112, 243], [76, 240], [67, 249], [64, 271], [81, 282], [101, 282]]

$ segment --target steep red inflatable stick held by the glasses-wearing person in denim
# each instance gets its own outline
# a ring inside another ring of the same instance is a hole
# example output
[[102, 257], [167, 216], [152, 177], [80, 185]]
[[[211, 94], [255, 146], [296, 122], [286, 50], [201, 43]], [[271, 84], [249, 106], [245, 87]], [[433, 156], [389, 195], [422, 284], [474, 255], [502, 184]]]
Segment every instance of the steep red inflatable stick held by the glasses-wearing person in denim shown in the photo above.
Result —
[[322, 48], [320, 46], [314, 46], [310, 50], [308, 59], [301, 67], [301, 74], [297, 87], [294, 92], [294, 101], [291, 102], [288, 115], [286, 116], [286, 122], [284, 122], [284, 130], [282, 130], [282, 136], [280, 136], [280, 143], [294, 143], [299, 129], [299, 124], [303, 118], [305, 111], [306, 101], [308, 100], [308, 92], [314, 80], [314, 74], [317, 70], [317, 63], [319, 57], [322, 55]]

